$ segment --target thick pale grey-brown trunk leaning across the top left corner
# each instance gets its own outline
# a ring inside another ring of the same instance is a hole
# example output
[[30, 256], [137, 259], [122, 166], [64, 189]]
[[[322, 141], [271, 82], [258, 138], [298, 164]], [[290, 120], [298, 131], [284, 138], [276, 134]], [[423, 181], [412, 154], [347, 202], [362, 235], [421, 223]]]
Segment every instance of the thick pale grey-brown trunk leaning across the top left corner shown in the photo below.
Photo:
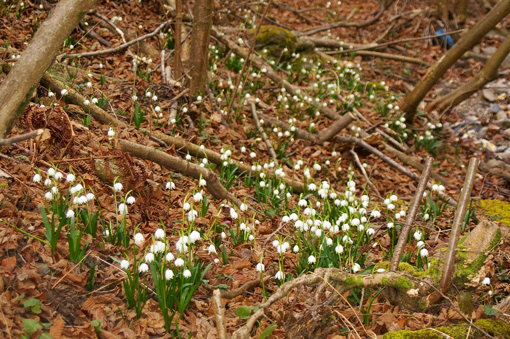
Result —
[[93, 4], [94, 0], [61, 0], [41, 24], [0, 85], [0, 138], [11, 132], [62, 42]]

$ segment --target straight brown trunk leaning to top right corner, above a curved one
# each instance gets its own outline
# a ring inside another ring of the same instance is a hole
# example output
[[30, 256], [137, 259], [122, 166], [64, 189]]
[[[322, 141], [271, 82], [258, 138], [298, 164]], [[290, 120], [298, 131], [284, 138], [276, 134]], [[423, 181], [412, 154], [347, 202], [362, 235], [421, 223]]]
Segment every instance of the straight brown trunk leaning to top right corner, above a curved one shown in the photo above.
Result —
[[406, 114], [407, 121], [413, 121], [420, 101], [440, 77], [450, 68], [455, 61], [461, 58], [464, 53], [471, 49], [480, 41], [495, 25], [501, 21], [508, 13], [510, 13], [510, 0], [502, 0], [494, 8], [487, 13], [480, 21], [478, 21], [468, 33], [450, 48], [443, 58], [439, 59], [436, 64], [430, 67], [422, 80], [416, 85], [414, 90], [409, 93], [402, 103], [402, 111]]

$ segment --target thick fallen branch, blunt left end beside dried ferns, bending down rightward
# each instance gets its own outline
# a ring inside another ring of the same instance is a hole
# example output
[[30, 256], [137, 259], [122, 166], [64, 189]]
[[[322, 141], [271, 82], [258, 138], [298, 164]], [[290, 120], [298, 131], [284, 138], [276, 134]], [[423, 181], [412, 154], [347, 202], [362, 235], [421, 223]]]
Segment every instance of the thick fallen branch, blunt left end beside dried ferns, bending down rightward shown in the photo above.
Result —
[[131, 153], [134, 157], [149, 160], [197, 180], [203, 178], [207, 182], [206, 189], [218, 200], [230, 200], [238, 206], [242, 203], [241, 200], [236, 198], [221, 185], [218, 176], [209, 169], [200, 167], [181, 158], [174, 157], [173, 155], [167, 154], [150, 146], [140, 145], [131, 141], [115, 139], [113, 145], [115, 148], [120, 149], [123, 152]]

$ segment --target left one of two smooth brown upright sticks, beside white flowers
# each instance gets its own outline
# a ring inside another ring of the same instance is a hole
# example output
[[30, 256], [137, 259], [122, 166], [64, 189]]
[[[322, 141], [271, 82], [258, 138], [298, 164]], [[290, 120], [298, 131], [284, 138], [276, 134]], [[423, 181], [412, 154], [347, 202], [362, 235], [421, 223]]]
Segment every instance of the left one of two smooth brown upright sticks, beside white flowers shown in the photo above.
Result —
[[425, 161], [425, 169], [421, 174], [420, 183], [418, 184], [418, 189], [416, 190], [415, 197], [411, 206], [409, 207], [409, 211], [407, 211], [407, 218], [405, 218], [405, 225], [402, 227], [400, 231], [400, 237], [398, 238], [397, 245], [395, 246], [395, 250], [393, 252], [393, 258], [391, 259], [390, 270], [397, 271], [398, 264], [400, 263], [400, 259], [402, 258], [402, 252], [404, 251], [404, 245], [407, 242], [407, 238], [409, 237], [409, 233], [411, 232], [411, 225], [414, 223], [414, 219], [416, 217], [416, 213], [418, 212], [418, 207], [420, 206], [420, 202], [423, 197], [423, 192], [425, 192], [425, 188], [427, 187], [428, 177], [432, 172], [432, 164], [433, 159], [427, 158]]

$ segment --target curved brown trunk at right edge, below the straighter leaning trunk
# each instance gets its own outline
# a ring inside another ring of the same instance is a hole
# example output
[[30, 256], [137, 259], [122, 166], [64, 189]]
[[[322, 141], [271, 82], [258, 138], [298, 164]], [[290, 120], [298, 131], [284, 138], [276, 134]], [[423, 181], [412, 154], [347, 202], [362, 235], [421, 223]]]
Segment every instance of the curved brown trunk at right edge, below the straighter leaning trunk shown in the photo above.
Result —
[[485, 67], [473, 76], [470, 81], [451, 91], [450, 93], [437, 98], [427, 105], [426, 111], [437, 110], [444, 111], [449, 107], [455, 107], [457, 103], [469, 98], [474, 92], [481, 89], [488, 82], [493, 81], [498, 76], [498, 69], [506, 56], [510, 53], [510, 36], [499, 46], [494, 55], [489, 59]]

